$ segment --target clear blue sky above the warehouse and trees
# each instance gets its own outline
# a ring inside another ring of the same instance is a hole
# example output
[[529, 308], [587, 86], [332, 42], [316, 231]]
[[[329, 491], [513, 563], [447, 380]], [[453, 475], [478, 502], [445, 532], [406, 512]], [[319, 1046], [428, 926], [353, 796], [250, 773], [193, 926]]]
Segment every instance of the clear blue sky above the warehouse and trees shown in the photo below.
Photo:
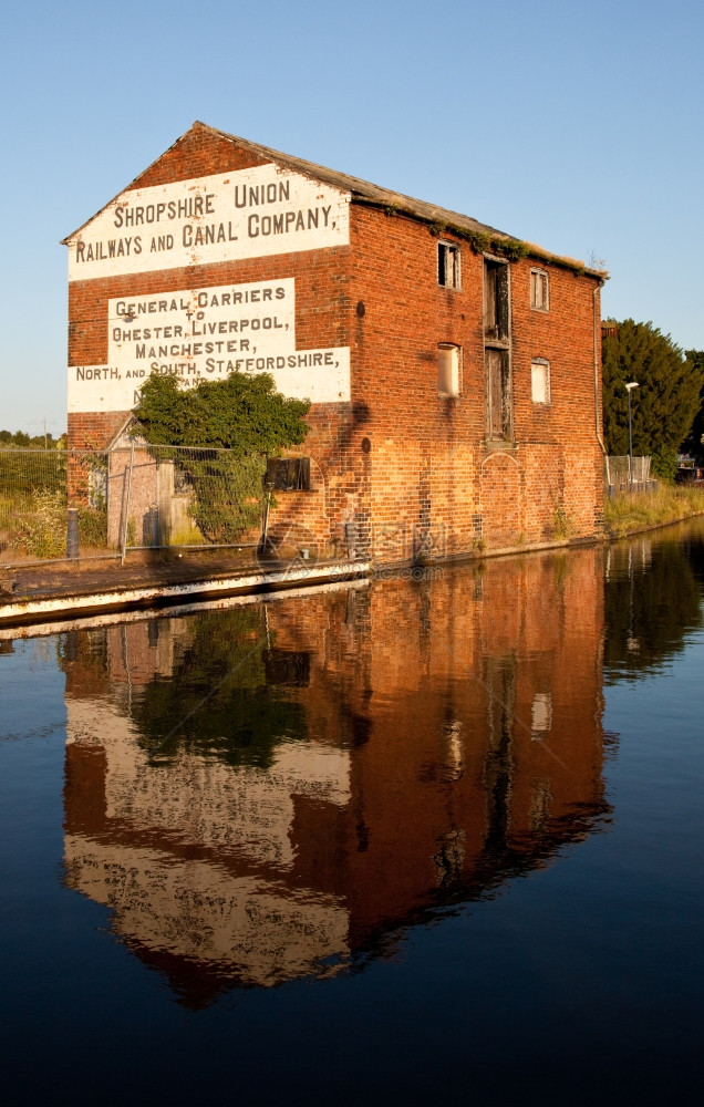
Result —
[[704, 349], [701, 0], [24, 0], [0, 11], [0, 428], [65, 428], [61, 238], [194, 120], [611, 272]]

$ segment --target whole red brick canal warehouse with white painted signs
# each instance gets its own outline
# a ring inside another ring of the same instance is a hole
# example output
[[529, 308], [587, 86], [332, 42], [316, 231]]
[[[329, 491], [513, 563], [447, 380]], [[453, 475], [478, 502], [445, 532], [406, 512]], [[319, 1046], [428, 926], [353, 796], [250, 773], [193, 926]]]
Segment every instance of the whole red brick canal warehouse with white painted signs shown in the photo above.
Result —
[[605, 273], [203, 123], [64, 241], [71, 447], [149, 372], [263, 370], [312, 401], [275, 525], [321, 552], [601, 530]]

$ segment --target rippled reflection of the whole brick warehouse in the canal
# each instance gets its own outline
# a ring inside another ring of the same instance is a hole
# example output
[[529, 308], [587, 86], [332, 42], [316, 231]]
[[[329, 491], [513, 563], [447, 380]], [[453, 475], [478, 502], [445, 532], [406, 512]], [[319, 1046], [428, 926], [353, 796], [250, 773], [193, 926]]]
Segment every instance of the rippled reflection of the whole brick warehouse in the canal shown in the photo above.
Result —
[[[203, 617], [76, 634], [69, 883], [206, 1002], [238, 982], [334, 971], [436, 907], [539, 867], [605, 809], [602, 557], [532, 556], [250, 608], [242, 656], [261, 665], [232, 671], [244, 699], [209, 700], [182, 737], [169, 737], [169, 710], [186, 701], [169, 696], [190, 681], [196, 704], [208, 664], [210, 687], [222, 677], [217, 622], [207, 656], [195, 649]], [[231, 617], [218, 617], [228, 642]], [[219, 743], [217, 712], [266, 713], [265, 680], [303, 727], [269, 735], [258, 761], [234, 724]], [[161, 731], [147, 702], [166, 705]]]

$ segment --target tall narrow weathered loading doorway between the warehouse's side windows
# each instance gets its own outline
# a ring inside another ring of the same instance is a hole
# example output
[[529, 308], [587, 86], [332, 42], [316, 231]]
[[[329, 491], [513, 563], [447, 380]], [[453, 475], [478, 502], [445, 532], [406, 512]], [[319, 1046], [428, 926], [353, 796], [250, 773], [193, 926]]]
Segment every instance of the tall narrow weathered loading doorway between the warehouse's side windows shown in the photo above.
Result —
[[505, 261], [484, 261], [484, 365], [486, 435], [489, 442], [513, 437], [510, 383], [509, 272]]

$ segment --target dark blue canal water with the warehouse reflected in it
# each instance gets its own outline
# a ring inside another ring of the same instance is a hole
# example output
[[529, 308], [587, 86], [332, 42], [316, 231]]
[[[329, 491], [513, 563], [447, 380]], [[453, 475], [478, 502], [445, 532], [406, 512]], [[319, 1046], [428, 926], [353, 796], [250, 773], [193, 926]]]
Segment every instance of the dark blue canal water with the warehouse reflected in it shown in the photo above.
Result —
[[698, 1101], [704, 524], [420, 576], [1, 632], [13, 1103]]

